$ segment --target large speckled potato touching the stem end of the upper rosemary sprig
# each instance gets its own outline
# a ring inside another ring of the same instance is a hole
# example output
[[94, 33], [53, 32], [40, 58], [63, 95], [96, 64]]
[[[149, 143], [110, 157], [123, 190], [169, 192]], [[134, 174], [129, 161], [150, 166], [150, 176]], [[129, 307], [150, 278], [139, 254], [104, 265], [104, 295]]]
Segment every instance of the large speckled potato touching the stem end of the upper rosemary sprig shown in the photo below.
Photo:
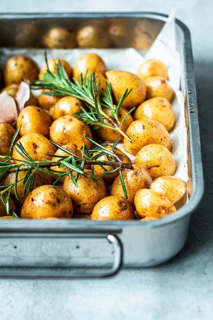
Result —
[[133, 121], [126, 133], [133, 143], [124, 138], [124, 150], [131, 155], [136, 155], [141, 148], [150, 143], [157, 143], [171, 150], [172, 144], [169, 132], [157, 120]]

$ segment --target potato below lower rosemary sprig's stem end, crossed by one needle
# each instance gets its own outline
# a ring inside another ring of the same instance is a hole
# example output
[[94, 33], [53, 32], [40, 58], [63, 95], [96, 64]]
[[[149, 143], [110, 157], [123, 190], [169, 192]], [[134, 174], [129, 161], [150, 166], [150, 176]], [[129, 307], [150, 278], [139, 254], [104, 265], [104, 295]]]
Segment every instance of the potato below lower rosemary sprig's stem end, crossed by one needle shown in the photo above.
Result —
[[[136, 192], [141, 188], [149, 189], [152, 178], [149, 173], [141, 165], [133, 164], [134, 169], [124, 169], [122, 171], [123, 180], [127, 192], [127, 200], [134, 205], [134, 197]], [[120, 177], [117, 177], [112, 185], [110, 196], [124, 197], [123, 188]]]

